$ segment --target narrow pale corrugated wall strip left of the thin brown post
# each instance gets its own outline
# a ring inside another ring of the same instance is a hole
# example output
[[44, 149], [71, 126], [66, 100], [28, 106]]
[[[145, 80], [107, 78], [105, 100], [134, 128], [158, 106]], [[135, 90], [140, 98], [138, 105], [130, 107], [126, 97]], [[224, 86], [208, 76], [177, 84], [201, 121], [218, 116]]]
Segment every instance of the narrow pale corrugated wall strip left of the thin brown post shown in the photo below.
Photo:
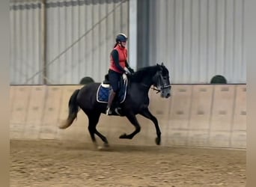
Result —
[[[10, 2], [10, 84], [42, 84], [40, 1]], [[4, 25], [2, 25], [4, 26]]]

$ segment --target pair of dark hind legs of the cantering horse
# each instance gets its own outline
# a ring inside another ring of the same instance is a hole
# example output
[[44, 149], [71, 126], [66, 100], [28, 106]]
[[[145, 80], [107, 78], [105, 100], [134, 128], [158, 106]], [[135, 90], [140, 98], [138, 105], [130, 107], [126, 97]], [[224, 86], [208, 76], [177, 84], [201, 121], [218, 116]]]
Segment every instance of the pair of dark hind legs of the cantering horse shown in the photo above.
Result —
[[107, 138], [100, 134], [100, 132], [97, 131], [96, 129], [96, 126], [97, 126], [97, 123], [99, 122], [99, 119], [100, 119], [100, 113], [94, 113], [94, 114], [88, 114], [88, 120], [89, 120], [89, 126], [88, 126], [88, 130], [90, 132], [90, 135], [91, 135], [91, 140], [94, 142], [94, 145], [96, 147], [97, 146], [97, 142], [96, 142], [96, 138], [95, 138], [95, 135], [98, 135], [100, 137], [100, 139], [104, 142], [104, 145], [106, 147], [109, 146], [109, 142], [107, 140]]

